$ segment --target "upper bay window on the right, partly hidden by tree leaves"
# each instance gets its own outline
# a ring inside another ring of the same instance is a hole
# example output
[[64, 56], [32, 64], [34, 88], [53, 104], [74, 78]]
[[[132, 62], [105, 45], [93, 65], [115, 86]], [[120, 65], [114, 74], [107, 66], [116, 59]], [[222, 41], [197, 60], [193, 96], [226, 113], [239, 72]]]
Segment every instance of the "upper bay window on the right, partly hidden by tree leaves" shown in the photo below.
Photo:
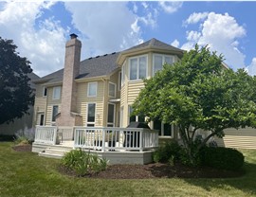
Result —
[[172, 64], [174, 63], [174, 57], [170, 55], [160, 55], [154, 54], [153, 56], [153, 76], [159, 70], [163, 69], [165, 63]]

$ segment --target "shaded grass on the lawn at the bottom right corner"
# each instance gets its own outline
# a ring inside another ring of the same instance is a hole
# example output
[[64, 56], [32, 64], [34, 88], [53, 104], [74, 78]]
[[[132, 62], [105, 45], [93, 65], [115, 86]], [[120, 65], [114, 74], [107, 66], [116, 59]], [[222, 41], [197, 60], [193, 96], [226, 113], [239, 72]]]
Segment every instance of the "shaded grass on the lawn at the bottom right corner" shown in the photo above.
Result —
[[246, 174], [236, 178], [215, 178], [215, 179], [184, 179], [187, 183], [204, 188], [207, 191], [212, 188], [230, 189], [237, 188], [251, 196], [256, 195], [256, 164], [245, 163], [243, 167]]

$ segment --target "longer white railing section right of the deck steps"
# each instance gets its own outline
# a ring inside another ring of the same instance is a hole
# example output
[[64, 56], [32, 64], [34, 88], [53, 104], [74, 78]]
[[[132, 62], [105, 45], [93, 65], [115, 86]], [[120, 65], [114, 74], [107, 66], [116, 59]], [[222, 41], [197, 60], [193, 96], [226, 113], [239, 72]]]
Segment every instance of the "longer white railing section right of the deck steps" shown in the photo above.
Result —
[[158, 133], [141, 128], [75, 128], [75, 148], [105, 151], [140, 151], [158, 146]]

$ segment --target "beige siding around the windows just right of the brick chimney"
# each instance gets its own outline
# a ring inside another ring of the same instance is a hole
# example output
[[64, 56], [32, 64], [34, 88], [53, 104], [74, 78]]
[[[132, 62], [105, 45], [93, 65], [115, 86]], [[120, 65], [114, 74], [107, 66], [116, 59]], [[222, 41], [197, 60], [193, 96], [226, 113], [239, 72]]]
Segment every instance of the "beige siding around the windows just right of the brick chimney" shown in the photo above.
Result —
[[98, 81], [97, 97], [87, 97], [88, 82], [78, 83], [77, 112], [82, 116], [82, 124], [86, 125], [87, 103], [96, 103], [95, 126], [103, 126], [104, 81]]

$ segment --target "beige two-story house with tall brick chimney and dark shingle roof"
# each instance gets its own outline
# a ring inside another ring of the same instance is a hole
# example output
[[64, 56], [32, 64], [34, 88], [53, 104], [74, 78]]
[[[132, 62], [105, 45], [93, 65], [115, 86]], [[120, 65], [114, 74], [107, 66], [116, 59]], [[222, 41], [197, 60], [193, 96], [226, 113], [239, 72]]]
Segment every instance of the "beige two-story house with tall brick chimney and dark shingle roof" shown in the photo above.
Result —
[[[164, 63], [178, 61], [183, 50], [154, 38], [81, 61], [81, 48], [77, 35], [71, 34], [65, 45], [64, 69], [34, 81], [33, 125], [42, 127], [37, 127], [33, 152], [46, 152], [50, 144], [58, 143], [57, 138], [61, 144], [73, 140], [74, 147], [101, 152], [144, 152], [158, 146], [158, 136], [174, 136], [174, 126], [160, 121], [151, 122], [153, 130], [147, 133], [142, 128], [125, 128], [130, 122], [145, 121], [144, 116], [130, 116], [131, 105], [144, 86], [143, 79], [154, 76]], [[115, 148], [102, 142], [110, 138], [109, 133], [112, 140], [115, 137]]]

